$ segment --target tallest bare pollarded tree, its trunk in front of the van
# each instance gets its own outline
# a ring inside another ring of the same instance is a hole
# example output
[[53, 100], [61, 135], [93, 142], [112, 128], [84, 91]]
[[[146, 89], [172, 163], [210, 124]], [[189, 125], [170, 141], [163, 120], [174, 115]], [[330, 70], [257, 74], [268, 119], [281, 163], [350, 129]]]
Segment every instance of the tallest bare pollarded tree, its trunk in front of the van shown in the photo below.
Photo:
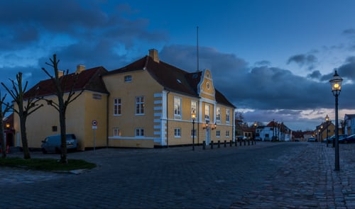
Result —
[[[77, 74], [73, 74], [73, 78], [68, 75], [69, 70], [65, 72], [62, 77], [59, 77], [58, 72], [58, 63], [60, 60], [57, 60], [57, 55], [53, 55], [53, 59], [50, 59], [50, 63], [45, 62], [50, 67], [53, 67], [54, 77], [43, 67], [45, 74], [50, 77], [55, 86], [55, 95], [58, 97], [58, 102], [55, 102], [50, 99], [42, 98], [47, 101], [48, 105], [53, 106], [59, 113], [59, 122], [60, 122], [60, 162], [67, 164], [67, 137], [66, 137], [66, 123], [65, 123], [65, 113], [67, 111], [67, 106], [78, 98], [82, 91], [79, 94], [75, 95], [74, 87], [77, 81]], [[73, 82], [70, 83], [71, 86], [67, 86], [68, 80], [72, 79]], [[67, 92], [69, 89], [69, 92]], [[64, 94], [67, 93], [67, 98], [64, 98]]]

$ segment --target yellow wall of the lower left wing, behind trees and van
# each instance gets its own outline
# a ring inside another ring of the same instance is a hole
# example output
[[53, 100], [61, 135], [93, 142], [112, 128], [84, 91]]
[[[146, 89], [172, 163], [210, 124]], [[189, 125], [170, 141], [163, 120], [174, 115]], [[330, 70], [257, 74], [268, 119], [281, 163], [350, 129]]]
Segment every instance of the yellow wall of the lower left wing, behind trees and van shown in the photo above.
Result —
[[[93, 96], [95, 94], [95, 96]], [[97, 99], [100, 98], [101, 99]], [[56, 96], [46, 97], [47, 99], [58, 101]], [[66, 98], [66, 96], [65, 96]], [[46, 101], [41, 101], [42, 108], [28, 116], [26, 121], [28, 147], [39, 148], [41, 141], [48, 135], [60, 134], [59, 113], [55, 108], [49, 106]], [[107, 145], [107, 95], [92, 91], [84, 91], [75, 101], [69, 104], [66, 113], [66, 132], [74, 133], [79, 142], [79, 149], [93, 147], [94, 137], [92, 130], [92, 120], [98, 120], [98, 128], [95, 130], [95, 146], [104, 147]], [[52, 127], [56, 126], [57, 131]], [[14, 128], [16, 130], [15, 139], [21, 141], [19, 118], [15, 114]], [[22, 147], [22, 142], [19, 142]], [[17, 145], [17, 142], [15, 142]]]

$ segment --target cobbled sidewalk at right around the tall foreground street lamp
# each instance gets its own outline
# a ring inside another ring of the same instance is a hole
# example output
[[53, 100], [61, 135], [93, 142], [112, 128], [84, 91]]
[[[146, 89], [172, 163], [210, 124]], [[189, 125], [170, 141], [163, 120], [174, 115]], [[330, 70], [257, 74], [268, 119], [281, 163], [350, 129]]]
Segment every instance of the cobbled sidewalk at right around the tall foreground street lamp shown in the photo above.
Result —
[[355, 208], [355, 144], [339, 145], [340, 171], [333, 147], [310, 148], [231, 208]]

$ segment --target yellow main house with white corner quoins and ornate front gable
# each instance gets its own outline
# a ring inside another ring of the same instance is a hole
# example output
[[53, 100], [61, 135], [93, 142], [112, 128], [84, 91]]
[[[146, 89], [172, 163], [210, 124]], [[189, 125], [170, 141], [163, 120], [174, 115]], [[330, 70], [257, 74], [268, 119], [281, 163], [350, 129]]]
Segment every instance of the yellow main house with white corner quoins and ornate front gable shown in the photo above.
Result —
[[[165, 147], [233, 139], [234, 106], [208, 69], [185, 72], [157, 50], [104, 74], [109, 95], [110, 147]], [[196, 114], [195, 137], [192, 113]]]

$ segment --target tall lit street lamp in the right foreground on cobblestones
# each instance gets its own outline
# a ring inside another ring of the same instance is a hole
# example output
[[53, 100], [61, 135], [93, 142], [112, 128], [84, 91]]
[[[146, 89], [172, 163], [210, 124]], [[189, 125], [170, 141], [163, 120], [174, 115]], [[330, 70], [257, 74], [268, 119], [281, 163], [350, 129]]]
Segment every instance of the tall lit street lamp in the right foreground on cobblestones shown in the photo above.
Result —
[[338, 126], [338, 96], [342, 91], [343, 79], [337, 74], [337, 70], [333, 75], [333, 79], [329, 82], [332, 85], [332, 93], [335, 96], [335, 171], [339, 171], [339, 126]]

